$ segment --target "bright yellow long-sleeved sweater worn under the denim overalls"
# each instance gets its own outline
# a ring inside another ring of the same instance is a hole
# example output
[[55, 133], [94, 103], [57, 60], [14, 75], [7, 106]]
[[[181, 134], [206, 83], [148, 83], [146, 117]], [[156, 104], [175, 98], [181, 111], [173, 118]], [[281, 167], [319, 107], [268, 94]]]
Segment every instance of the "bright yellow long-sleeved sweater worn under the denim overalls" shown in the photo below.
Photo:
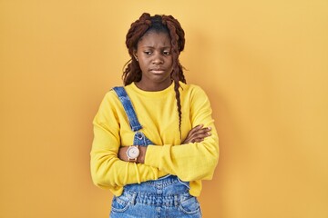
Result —
[[[182, 84], [181, 137], [174, 84], [159, 92], [146, 92], [135, 84], [125, 86], [134, 106], [140, 130], [154, 144], [149, 145], [145, 163], [118, 159], [120, 146], [133, 144], [134, 132], [114, 91], [105, 95], [94, 118], [94, 141], [91, 150], [93, 182], [115, 195], [129, 183], [156, 180], [166, 174], [190, 182], [190, 194], [199, 196], [201, 180], [210, 180], [219, 159], [219, 138], [211, 117], [210, 101], [197, 85]], [[198, 124], [211, 127], [211, 135], [201, 143], [181, 144]]]

